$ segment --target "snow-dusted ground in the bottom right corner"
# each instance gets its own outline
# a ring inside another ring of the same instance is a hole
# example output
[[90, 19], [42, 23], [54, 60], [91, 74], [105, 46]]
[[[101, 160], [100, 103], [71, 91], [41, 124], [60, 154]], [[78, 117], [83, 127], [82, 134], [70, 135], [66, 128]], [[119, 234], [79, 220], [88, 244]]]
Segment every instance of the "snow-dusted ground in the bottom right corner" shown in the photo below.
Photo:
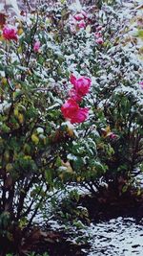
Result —
[[142, 256], [143, 228], [130, 218], [92, 224], [87, 229], [92, 237], [88, 256]]

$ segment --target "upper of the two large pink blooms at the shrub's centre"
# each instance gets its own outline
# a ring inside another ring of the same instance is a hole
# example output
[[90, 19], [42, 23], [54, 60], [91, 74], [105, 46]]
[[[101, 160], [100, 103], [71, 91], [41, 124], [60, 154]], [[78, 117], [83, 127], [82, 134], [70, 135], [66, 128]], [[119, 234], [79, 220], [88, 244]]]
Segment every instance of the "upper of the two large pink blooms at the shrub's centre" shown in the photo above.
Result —
[[80, 77], [79, 79], [76, 79], [73, 75], [71, 76], [70, 81], [73, 84], [73, 90], [74, 94], [76, 94], [79, 97], [85, 96], [91, 87], [92, 81], [91, 79], [87, 77]]

